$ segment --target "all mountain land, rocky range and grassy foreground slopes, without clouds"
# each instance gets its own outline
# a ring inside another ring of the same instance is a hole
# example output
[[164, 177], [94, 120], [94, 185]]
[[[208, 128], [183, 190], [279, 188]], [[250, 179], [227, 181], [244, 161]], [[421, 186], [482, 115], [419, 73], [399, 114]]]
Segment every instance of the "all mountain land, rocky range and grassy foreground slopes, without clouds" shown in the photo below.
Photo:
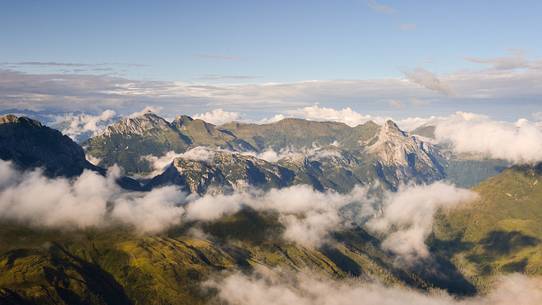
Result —
[[[249, 206], [143, 235], [129, 226], [64, 230], [0, 219], [0, 303], [208, 304], [212, 291], [201, 285], [214, 274], [262, 266], [438, 288], [458, 297], [487, 291], [495, 275], [542, 275], [540, 166], [456, 155], [430, 137], [392, 121], [215, 126], [145, 113], [121, 119], [81, 147], [37, 121], [1, 117], [0, 158], [22, 171], [42, 168], [51, 179], [85, 170], [106, 175], [117, 164], [137, 178], [121, 177], [119, 185], [142, 193], [169, 185], [193, 195], [293, 185], [338, 193], [377, 185], [394, 192], [402, 184], [449, 179], [472, 186], [478, 198], [466, 208], [439, 211], [426, 240], [432, 258], [413, 266], [398, 264], [382, 248], [382, 236], [363, 226], [347, 226], [333, 233], [334, 242], [311, 247], [282, 237], [281, 215]], [[168, 153], [166, 166], [155, 168]]]

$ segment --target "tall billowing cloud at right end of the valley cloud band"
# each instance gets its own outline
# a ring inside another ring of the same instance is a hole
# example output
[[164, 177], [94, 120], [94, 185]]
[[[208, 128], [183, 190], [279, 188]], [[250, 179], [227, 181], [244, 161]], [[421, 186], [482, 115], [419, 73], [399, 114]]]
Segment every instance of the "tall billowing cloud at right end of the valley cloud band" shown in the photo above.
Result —
[[433, 226], [438, 209], [448, 209], [476, 198], [476, 193], [444, 182], [401, 187], [387, 193], [382, 214], [367, 227], [385, 234], [382, 247], [399, 255], [407, 263], [429, 256], [425, 239]]

